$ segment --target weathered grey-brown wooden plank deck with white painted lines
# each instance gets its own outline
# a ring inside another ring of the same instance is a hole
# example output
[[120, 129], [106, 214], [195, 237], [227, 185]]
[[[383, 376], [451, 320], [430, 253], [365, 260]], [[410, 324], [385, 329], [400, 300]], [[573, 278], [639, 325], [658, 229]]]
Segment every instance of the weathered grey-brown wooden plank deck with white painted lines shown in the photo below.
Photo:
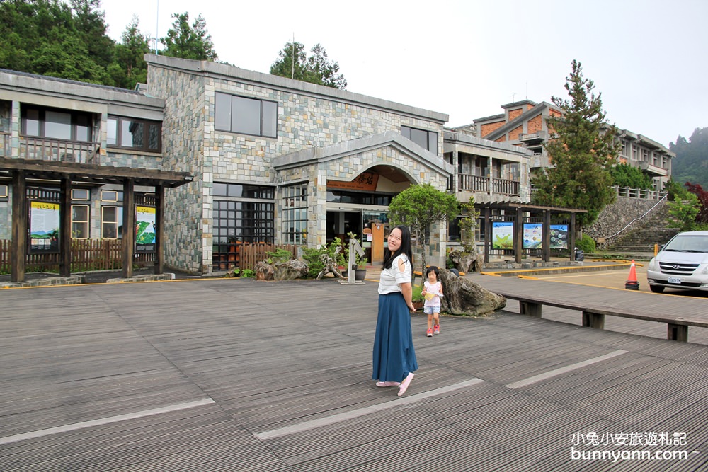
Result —
[[[376, 287], [0, 290], [0, 471], [708, 470], [708, 345], [510, 311], [445, 316], [426, 338], [415, 314], [420, 369], [399, 398], [370, 379]], [[573, 445], [589, 433], [686, 444]], [[658, 449], [687, 452], [572, 454]]]

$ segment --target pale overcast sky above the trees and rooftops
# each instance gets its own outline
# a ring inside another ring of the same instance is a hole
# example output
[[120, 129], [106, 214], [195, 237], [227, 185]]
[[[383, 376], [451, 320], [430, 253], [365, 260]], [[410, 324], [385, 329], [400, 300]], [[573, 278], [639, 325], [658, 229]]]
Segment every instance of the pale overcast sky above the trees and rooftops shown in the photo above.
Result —
[[347, 90], [450, 115], [568, 98], [571, 61], [601, 92], [607, 119], [664, 146], [708, 127], [708, 1], [102, 0], [108, 34], [132, 16], [164, 37], [172, 13], [200, 13], [219, 60], [268, 73], [285, 43], [318, 42]]

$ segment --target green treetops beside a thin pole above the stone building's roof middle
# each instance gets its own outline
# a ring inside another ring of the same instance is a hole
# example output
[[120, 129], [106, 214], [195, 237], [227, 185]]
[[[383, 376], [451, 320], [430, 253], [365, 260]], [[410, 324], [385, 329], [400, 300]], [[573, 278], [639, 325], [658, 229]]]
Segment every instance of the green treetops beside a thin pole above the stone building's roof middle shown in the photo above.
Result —
[[279, 59], [270, 66], [270, 74], [311, 84], [344, 89], [347, 81], [339, 72], [338, 62], [330, 61], [321, 44], [316, 44], [307, 57], [302, 42], [287, 42], [278, 52]]

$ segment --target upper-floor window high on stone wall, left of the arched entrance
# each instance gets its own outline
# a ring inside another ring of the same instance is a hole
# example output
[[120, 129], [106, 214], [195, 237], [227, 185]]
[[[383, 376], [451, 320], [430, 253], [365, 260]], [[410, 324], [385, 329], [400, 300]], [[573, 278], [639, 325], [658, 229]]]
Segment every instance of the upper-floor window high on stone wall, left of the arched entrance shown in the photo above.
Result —
[[215, 127], [219, 131], [278, 137], [278, 103], [216, 93]]

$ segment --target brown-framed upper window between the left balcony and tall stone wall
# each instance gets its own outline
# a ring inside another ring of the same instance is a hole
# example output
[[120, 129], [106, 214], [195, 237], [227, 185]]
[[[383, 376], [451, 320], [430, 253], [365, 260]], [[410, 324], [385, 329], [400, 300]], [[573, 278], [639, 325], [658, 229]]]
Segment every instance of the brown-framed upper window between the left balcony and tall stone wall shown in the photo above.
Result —
[[162, 123], [137, 118], [108, 117], [109, 147], [137, 151], [162, 151]]

